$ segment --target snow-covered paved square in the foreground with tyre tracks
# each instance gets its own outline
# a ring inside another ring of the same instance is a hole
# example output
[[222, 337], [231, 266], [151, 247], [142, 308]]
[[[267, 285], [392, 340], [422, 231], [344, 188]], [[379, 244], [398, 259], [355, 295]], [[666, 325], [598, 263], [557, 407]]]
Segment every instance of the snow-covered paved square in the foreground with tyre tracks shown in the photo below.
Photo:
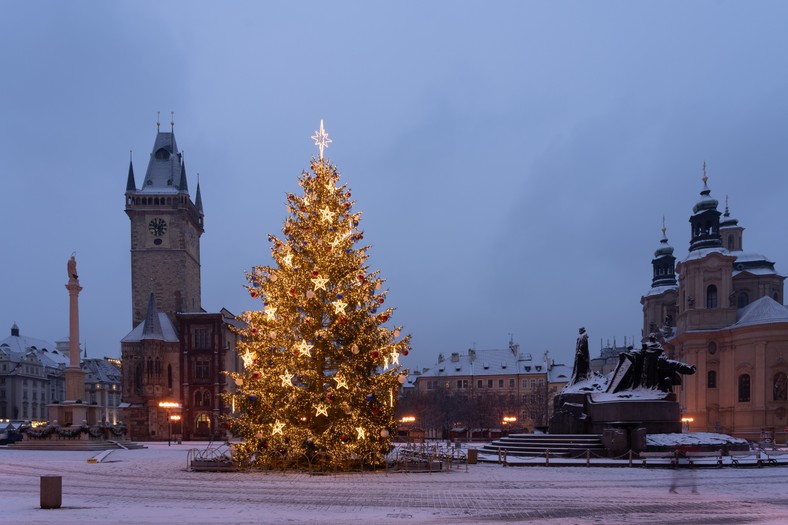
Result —
[[[189, 448], [150, 443], [95, 452], [0, 447], [0, 521], [92, 523], [548, 524], [788, 523], [788, 467], [694, 471], [462, 465], [424, 474], [200, 473]], [[43, 510], [40, 476], [63, 476], [63, 507]], [[668, 488], [674, 476], [683, 486]], [[697, 484], [699, 494], [691, 493]]]

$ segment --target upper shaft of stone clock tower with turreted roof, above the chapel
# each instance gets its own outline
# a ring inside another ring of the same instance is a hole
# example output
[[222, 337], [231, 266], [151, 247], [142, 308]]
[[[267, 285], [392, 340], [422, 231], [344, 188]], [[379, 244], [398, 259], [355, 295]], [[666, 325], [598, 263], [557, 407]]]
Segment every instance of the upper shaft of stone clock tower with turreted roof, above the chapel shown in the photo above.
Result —
[[[158, 128], [158, 124], [157, 124]], [[157, 129], [148, 169], [138, 189], [129, 161], [126, 215], [131, 220], [132, 326], [145, 319], [150, 295], [173, 324], [176, 312], [199, 312], [200, 236], [203, 209], [200, 185], [189, 196], [186, 165], [174, 127]]]

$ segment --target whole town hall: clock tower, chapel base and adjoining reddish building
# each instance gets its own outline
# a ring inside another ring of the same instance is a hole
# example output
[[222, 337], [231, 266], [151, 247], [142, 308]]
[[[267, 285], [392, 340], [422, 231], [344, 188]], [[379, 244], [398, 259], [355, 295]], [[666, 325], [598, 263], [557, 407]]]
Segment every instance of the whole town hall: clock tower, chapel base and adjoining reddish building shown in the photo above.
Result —
[[202, 309], [202, 196], [198, 183], [191, 199], [174, 129], [157, 129], [139, 188], [129, 162], [125, 197], [133, 329], [121, 340], [121, 359], [129, 437], [223, 437], [222, 394], [234, 388], [225, 372], [241, 368], [232, 330], [238, 321], [225, 309]]

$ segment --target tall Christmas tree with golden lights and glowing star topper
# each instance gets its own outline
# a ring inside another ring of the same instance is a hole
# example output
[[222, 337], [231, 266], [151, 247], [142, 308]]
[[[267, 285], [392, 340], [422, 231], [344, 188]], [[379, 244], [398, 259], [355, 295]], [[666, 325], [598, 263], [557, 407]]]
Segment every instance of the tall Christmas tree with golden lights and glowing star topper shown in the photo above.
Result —
[[247, 466], [380, 465], [396, 430], [410, 336], [386, 326], [394, 309], [358, 246], [361, 213], [323, 158], [322, 121], [312, 138], [320, 156], [298, 179], [303, 194], [287, 196], [284, 237], [269, 235], [275, 264], [246, 275], [263, 308], [242, 316], [229, 427]]

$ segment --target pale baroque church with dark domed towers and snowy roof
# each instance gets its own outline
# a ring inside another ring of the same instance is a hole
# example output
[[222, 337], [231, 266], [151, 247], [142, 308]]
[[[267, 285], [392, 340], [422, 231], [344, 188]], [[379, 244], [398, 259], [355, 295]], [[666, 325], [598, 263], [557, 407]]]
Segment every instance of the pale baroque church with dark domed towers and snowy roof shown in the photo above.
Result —
[[703, 175], [689, 222], [689, 253], [676, 263], [663, 227], [643, 305], [643, 336], [664, 338], [695, 365], [677, 389], [690, 430], [785, 441], [788, 308], [774, 263], [744, 249], [744, 228], [711, 196]]

